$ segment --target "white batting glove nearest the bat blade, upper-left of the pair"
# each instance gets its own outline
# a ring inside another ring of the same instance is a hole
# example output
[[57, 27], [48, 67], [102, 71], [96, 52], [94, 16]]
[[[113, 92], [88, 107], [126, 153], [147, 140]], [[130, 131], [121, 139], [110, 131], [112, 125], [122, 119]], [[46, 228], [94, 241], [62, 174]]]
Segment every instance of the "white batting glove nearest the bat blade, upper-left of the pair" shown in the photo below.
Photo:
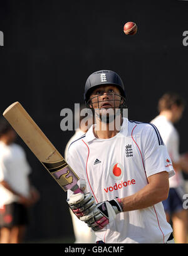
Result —
[[66, 200], [71, 210], [75, 215], [80, 218], [81, 216], [87, 215], [96, 206], [95, 200], [91, 193], [84, 195], [83, 193], [73, 194]]

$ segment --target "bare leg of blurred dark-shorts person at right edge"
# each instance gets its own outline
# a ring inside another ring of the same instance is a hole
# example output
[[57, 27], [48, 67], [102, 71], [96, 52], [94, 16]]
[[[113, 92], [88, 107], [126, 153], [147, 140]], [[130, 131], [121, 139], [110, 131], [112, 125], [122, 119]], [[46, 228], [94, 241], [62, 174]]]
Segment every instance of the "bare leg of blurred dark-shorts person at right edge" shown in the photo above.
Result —
[[172, 216], [175, 243], [187, 243], [187, 210], [174, 213]]

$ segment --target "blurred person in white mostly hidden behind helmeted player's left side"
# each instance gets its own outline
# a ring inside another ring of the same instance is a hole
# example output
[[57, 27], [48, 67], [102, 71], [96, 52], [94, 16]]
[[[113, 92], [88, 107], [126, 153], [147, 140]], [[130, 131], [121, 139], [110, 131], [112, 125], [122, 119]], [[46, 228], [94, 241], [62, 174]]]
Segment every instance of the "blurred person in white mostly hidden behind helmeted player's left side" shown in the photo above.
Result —
[[[85, 105], [81, 104], [80, 112], [83, 109], [85, 109]], [[68, 143], [66, 144], [66, 147], [65, 147], [65, 160], [66, 161], [67, 161], [68, 148], [69, 148], [70, 144], [73, 141], [76, 141], [76, 139], [83, 136], [88, 131], [86, 129], [85, 125], [81, 124], [81, 120], [83, 120], [83, 118], [85, 116], [81, 116], [80, 112], [75, 113], [75, 125], [80, 124], [80, 127], [75, 127], [75, 134], [70, 138], [70, 140], [68, 141]], [[88, 122], [90, 122], [90, 124], [87, 125], [89, 128], [93, 124], [93, 119], [88, 118]], [[96, 236], [95, 236], [95, 233], [93, 232], [93, 230], [91, 230], [91, 228], [89, 228], [87, 225], [85, 225], [85, 223], [83, 221], [79, 220], [76, 217], [76, 215], [73, 214], [73, 212], [71, 210], [70, 210], [70, 214], [71, 214], [71, 220], [73, 222], [73, 231], [75, 233], [75, 243], [95, 243]]]

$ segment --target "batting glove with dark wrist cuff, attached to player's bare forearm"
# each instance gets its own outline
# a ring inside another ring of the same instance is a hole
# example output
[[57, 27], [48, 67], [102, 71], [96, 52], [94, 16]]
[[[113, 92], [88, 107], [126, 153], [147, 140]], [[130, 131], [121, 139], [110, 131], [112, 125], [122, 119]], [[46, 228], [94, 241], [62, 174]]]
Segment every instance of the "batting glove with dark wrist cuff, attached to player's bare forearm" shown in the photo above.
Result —
[[81, 216], [80, 220], [85, 221], [93, 231], [98, 231], [102, 230], [102, 228], [114, 220], [115, 216], [122, 211], [122, 201], [119, 198], [115, 198], [110, 201], [98, 203], [93, 211], [85, 216]]

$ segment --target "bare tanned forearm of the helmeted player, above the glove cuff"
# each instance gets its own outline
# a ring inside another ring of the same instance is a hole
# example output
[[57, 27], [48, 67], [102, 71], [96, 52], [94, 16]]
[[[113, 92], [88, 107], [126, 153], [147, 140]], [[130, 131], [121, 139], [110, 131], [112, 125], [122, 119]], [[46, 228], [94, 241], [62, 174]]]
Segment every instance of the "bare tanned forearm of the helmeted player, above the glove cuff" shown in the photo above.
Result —
[[151, 184], [147, 184], [134, 195], [121, 198], [123, 211], [140, 210], [153, 206], [167, 199], [168, 191], [167, 188], [154, 188]]

